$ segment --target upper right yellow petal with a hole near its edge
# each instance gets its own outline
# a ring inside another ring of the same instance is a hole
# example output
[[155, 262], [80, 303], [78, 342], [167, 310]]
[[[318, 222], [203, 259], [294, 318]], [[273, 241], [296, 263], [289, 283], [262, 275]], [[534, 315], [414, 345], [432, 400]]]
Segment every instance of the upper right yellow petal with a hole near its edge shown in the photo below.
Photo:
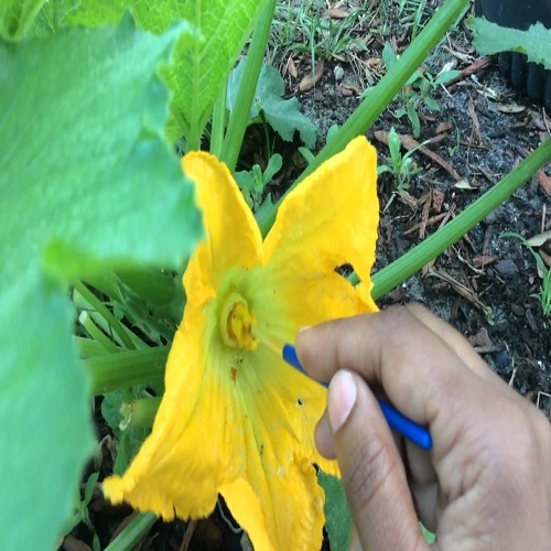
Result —
[[[266, 288], [278, 287], [287, 310], [280, 315], [298, 329], [377, 311], [370, 270], [378, 220], [377, 154], [359, 137], [289, 194], [264, 240]], [[356, 288], [335, 272], [345, 263], [361, 280]], [[268, 304], [269, 298], [261, 302]]]

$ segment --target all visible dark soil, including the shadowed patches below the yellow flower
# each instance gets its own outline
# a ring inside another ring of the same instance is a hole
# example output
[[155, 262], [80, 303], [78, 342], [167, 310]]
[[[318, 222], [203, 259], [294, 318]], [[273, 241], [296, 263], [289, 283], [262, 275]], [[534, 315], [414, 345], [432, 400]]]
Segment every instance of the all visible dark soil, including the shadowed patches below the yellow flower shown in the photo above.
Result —
[[[428, 2], [431, 8], [439, 3]], [[354, 8], [354, 1], [349, 4], [339, 2], [342, 9]], [[356, 33], [368, 44], [367, 51], [355, 51], [339, 60], [326, 58], [323, 76], [310, 91], [300, 93], [299, 83], [310, 71], [311, 60], [292, 54], [299, 74], [296, 77], [285, 75], [288, 96], [299, 97], [302, 110], [318, 127], [318, 149], [325, 142], [327, 129], [342, 125], [359, 105], [355, 90], [375, 84], [385, 73], [383, 64], [378, 62], [385, 42], [391, 42], [400, 53], [411, 40], [411, 25], [400, 20], [396, 7], [385, 11], [385, 25], [381, 25], [381, 17], [379, 13], [366, 19], [368, 23]], [[382, 26], [388, 32], [385, 36], [380, 34]], [[468, 30], [462, 24], [449, 33], [426, 61], [425, 68], [435, 75], [446, 63], [455, 62], [454, 68], [463, 71], [479, 60], [471, 46]], [[277, 63], [284, 67], [287, 56]], [[376, 270], [460, 214], [549, 137], [551, 123], [545, 112], [511, 91], [495, 65], [476, 71], [472, 77], [460, 78], [447, 91], [442, 88], [435, 91], [431, 97], [439, 101], [441, 109], [419, 110], [421, 136], [418, 141], [439, 137], [426, 148], [450, 163], [472, 188], [457, 187], [456, 179], [449, 171], [419, 151], [413, 159], [422, 171], [411, 179], [408, 190], [399, 191], [393, 176], [381, 175]], [[379, 164], [388, 163], [389, 155], [379, 132], [395, 127], [400, 134], [412, 134], [408, 119], [397, 119], [393, 115], [399, 107], [400, 102], [392, 104], [367, 133], [378, 150]], [[504, 112], [507, 110], [514, 112]], [[276, 137], [273, 140], [276, 149], [280, 148], [288, 161], [283, 177], [270, 190], [278, 195], [284, 191], [285, 182], [291, 183], [298, 175], [298, 165], [303, 160], [295, 153], [298, 143], [290, 147]], [[252, 128], [242, 154], [261, 163], [264, 145], [263, 129]], [[551, 175], [551, 166], [547, 166], [545, 172]], [[539, 408], [551, 419], [551, 397], [545, 396], [551, 393], [551, 318], [543, 317], [540, 303], [532, 296], [539, 291], [541, 279], [530, 251], [519, 240], [501, 237], [506, 231], [515, 231], [529, 238], [549, 230], [550, 213], [550, 195], [536, 175], [442, 253], [430, 269], [410, 278], [380, 300], [379, 305], [423, 303], [458, 328], [489, 366], [527, 400], [536, 403], [539, 399]], [[548, 255], [550, 246], [548, 242], [543, 249]], [[99, 493], [95, 495], [90, 517], [101, 548], [131, 515], [129, 508], [112, 507]], [[224, 516], [229, 517], [229, 512]], [[249, 549], [242, 538], [242, 533], [229, 528], [217, 508], [208, 519], [187, 527], [181, 521], [170, 525], [158, 521], [139, 549]], [[63, 548], [87, 549], [80, 547], [84, 541], [91, 544], [91, 532], [80, 525], [64, 541]], [[328, 549], [327, 541], [324, 548]]]

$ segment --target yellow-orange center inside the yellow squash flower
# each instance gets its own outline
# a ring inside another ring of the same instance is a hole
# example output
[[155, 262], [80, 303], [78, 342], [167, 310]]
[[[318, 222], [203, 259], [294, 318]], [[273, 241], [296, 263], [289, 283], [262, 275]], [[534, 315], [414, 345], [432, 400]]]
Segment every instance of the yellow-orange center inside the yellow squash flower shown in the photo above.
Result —
[[223, 341], [233, 348], [256, 350], [258, 343], [252, 334], [257, 316], [249, 310], [247, 301], [239, 293], [231, 293], [220, 311]]

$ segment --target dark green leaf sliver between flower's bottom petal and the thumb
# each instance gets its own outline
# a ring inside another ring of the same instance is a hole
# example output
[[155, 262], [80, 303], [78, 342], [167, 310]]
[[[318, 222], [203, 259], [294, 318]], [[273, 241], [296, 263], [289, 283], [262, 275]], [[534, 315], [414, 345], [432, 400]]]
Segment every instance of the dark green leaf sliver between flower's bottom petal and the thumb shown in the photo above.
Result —
[[352, 518], [343, 484], [323, 471], [317, 473], [317, 484], [325, 491], [325, 529], [331, 550], [346, 551], [349, 547]]

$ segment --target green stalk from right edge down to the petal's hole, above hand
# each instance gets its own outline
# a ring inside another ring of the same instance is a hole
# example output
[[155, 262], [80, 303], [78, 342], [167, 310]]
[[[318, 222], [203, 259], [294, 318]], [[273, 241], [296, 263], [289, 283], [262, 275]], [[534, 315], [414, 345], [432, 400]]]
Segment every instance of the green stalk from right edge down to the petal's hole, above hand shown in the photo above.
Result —
[[[371, 278], [374, 282], [371, 296], [374, 300], [380, 299], [398, 287], [424, 264], [447, 249], [453, 242], [463, 237], [497, 206], [509, 198], [536, 171], [550, 161], [551, 139], [548, 139], [507, 174], [507, 176], [465, 208], [452, 222], [398, 260], [379, 270]], [[350, 281], [357, 282], [357, 276], [350, 278]]]

